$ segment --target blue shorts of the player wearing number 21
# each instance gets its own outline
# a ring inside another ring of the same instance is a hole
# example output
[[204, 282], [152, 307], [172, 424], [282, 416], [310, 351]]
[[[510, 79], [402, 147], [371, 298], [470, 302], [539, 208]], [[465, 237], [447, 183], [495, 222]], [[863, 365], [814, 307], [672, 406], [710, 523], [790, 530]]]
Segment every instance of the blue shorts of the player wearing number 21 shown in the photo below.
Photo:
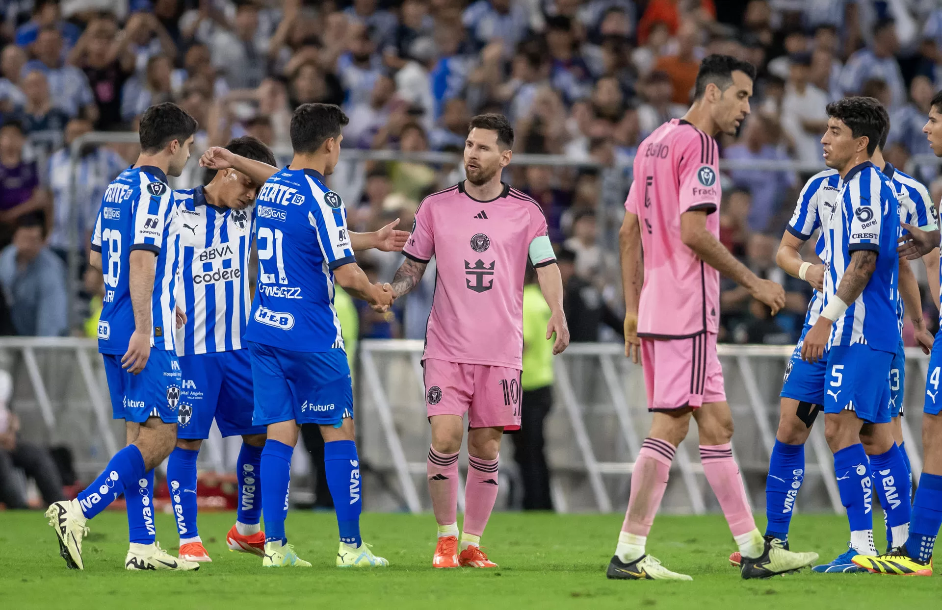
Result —
[[353, 388], [347, 354], [298, 352], [271, 345], [249, 344], [255, 393], [252, 423], [268, 425], [294, 420], [298, 424], [340, 427], [353, 417]]

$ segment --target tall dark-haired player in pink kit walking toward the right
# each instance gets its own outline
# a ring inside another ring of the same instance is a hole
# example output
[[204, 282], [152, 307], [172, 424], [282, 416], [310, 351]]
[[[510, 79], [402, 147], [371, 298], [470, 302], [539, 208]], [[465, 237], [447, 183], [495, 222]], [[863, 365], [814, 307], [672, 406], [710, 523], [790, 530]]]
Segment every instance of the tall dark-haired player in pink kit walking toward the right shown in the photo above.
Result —
[[772, 313], [785, 305], [782, 286], [757, 278], [719, 241], [720, 154], [713, 136], [736, 133], [749, 114], [754, 78], [749, 63], [707, 56], [690, 110], [683, 119], [658, 127], [638, 148], [620, 234], [625, 356], [642, 361], [654, 417], [632, 471], [609, 578], [691, 580], [645, 554], [674, 451], [687, 436], [691, 415], [700, 433], [704, 474], [742, 554], [742, 577], [798, 570], [818, 558], [773, 545], [755, 527], [729, 444], [733, 418], [716, 352], [721, 273]]

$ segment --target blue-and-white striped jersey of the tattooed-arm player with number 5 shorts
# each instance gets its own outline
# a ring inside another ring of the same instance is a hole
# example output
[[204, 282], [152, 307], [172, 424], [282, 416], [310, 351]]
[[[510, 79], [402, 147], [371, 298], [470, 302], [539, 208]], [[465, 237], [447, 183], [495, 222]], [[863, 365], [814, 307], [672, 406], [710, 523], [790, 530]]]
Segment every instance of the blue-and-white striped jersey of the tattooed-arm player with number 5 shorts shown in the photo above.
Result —
[[829, 347], [865, 344], [895, 352], [900, 344], [896, 316], [900, 202], [893, 184], [869, 161], [855, 166], [841, 182], [834, 211], [821, 212], [820, 222], [827, 256], [825, 306], [836, 296], [853, 252], [877, 253], [876, 269], [863, 292], [835, 321]]

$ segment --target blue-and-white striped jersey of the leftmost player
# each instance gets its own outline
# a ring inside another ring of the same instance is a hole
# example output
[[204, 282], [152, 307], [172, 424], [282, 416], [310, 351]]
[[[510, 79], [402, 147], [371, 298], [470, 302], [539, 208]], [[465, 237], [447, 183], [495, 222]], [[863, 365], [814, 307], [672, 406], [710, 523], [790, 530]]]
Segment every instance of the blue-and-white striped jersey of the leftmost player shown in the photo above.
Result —
[[159, 168], [129, 168], [106, 188], [98, 211], [91, 249], [102, 253], [105, 298], [98, 322], [98, 351], [123, 354], [134, 332], [134, 309], [128, 276], [131, 250], [156, 254], [151, 297], [151, 345], [174, 349], [176, 274], [179, 263], [179, 218], [171, 187]]

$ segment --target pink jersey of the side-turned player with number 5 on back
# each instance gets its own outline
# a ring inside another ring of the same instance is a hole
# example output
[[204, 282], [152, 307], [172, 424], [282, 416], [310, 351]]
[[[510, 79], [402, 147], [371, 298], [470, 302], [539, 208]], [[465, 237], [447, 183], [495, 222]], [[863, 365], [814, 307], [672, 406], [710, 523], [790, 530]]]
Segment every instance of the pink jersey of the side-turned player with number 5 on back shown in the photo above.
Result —
[[720, 236], [720, 169], [716, 141], [686, 120], [670, 120], [644, 138], [635, 157], [625, 209], [638, 215], [644, 283], [638, 334], [677, 339], [717, 332], [720, 273], [680, 240], [680, 215], [707, 211]]

